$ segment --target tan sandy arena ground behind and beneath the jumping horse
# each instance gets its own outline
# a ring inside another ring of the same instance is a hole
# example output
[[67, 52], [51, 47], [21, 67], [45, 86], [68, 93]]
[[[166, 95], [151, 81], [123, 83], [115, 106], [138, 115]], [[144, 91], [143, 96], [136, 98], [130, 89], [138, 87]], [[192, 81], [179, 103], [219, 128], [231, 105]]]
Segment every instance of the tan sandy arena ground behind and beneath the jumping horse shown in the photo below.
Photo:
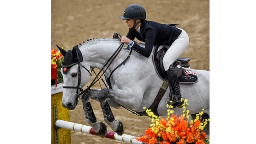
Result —
[[[58, 44], [69, 50], [87, 39], [110, 37], [114, 32], [126, 35], [128, 27], [120, 16], [130, 4], [142, 5], [147, 12], [146, 20], [181, 24], [179, 27], [190, 39], [181, 57], [191, 59], [192, 69], [209, 70], [209, 0], [52, 0], [52, 49]], [[104, 122], [100, 104], [91, 100], [91, 105], [97, 120]], [[149, 117], [136, 116], [124, 108], [112, 108], [112, 112], [123, 122], [125, 134], [140, 136], [151, 122]], [[81, 101], [75, 110], [70, 110], [70, 121], [88, 125]], [[71, 143], [124, 144], [76, 131], [71, 131]]]

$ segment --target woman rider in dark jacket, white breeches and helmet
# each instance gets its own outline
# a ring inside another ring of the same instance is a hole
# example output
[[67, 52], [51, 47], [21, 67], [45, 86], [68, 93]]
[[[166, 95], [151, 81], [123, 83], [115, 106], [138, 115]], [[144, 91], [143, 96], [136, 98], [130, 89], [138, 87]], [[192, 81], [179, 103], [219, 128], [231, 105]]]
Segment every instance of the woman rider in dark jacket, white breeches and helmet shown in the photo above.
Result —
[[[128, 44], [136, 52], [149, 58], [154, 45], [165, 45], [165, 47], [167, 45], [167, 48], [169, 47], [163, 58], [163, 66], [173, 94], [177, 98], [173, 96], [174, 98], [171, 100], [172, 96], [170, 96], [170, 100], [167, 103], [174, 108], [182, 107], [179, 80], [173, 63], [187, 49], [189, 43], [187, 33], [175, 26], [145, 20], [146, 11], [141, 5], [137, 4], [129, 5], [120, 18], [126, 20], [125, 22], [129, 27], [126, 37], [121, 37], [121, 42]], [[145, 48], [133, 42], [135, 37], [145, 43]]]

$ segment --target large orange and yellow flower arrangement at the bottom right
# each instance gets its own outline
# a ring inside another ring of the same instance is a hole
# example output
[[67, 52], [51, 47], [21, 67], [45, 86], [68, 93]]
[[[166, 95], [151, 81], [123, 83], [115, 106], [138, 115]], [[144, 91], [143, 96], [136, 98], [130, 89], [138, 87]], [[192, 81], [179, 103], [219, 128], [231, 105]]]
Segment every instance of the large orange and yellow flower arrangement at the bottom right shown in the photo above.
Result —
[[152, 124], [145, 130], [144, 135], [136, 139], [143, 144], [209, 144], [203, 132], [203, 128], [209, 121], [209, 119], [202, 120], [204, 109], [196, 115], [195, 120], [187, 123], [189, 118], [187, 106], [187, 99], [185, 99], [183, 114], [178, 117], [171, 110], [173, 107], [167, 104], [170, 109], [167, 110], [166, 119], [155, 116], [150, 109], [146, 110], [149, 117], [152, 117]]

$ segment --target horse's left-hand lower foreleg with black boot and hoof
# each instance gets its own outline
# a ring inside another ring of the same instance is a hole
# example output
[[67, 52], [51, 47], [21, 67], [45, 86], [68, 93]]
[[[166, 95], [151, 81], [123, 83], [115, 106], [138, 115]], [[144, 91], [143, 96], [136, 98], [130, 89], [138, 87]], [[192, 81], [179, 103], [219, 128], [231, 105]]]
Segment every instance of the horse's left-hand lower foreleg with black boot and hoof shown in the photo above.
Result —
[[91, 125], [94, 131], [98, 133], [101, 136], [101, 138], [106, 137], [107, 126], [102, 122], [97, 122], [90, 101], [83, 99], [82, 102], [85, 111], [86, 122]]

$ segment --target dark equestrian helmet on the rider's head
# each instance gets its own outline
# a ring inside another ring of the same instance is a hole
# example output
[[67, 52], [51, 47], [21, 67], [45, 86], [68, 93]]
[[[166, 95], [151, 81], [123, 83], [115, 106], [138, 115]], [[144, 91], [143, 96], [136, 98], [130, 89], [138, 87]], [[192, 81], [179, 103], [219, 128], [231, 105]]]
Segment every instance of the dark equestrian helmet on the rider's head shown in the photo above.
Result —
[[146, 11], [141, 5], [133, 4], [126, 7], [123, 12], [123, 16], [120, 16], [122, 20], [133, 19], [134, 21], [146, 19]]

